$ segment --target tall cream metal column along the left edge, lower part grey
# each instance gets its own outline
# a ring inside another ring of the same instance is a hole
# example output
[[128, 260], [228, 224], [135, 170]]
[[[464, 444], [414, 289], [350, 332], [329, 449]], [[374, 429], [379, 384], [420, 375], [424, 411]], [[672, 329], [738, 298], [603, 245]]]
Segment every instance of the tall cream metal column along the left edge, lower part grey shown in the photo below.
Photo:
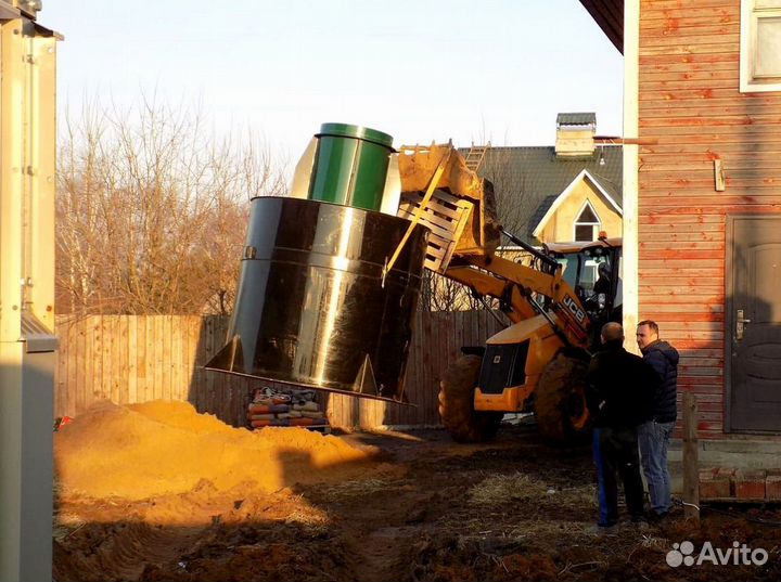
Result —
[[0, 580], [52, 579], [56, 35], [0, 0]]

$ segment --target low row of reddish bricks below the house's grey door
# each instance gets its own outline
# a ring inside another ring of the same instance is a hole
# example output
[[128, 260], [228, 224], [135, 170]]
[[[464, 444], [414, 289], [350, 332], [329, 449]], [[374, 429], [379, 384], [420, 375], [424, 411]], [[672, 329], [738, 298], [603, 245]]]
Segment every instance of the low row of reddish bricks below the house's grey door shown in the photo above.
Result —
[[781, 502], [781, 469], [701, 469], [700, 500]]

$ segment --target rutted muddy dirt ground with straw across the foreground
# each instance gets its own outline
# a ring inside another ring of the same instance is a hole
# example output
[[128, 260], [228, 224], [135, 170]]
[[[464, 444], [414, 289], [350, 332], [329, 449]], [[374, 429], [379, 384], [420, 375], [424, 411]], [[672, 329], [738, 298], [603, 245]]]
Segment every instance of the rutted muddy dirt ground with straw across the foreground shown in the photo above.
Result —
[[[189, 491], [131, 500], [61, 486], [54, 580], [781, 579], [781, 528], [760, 522], [781, 521], [777, 508], [704, 510], [700, 526], [676, 509], [662, 525], [591, 531], [590, 451], [548, 449], [533, 426], [503, 427], [484, 445], [459, 445], [436, 430], [332, 438], [362, 457], [308, 473], [306, 457], [295, 458], [294, 478], [272, 491], [203, 479]], [[668, 566], [673, 544], [687, 540], [721, 548], [737, 541], [769, 559]]]

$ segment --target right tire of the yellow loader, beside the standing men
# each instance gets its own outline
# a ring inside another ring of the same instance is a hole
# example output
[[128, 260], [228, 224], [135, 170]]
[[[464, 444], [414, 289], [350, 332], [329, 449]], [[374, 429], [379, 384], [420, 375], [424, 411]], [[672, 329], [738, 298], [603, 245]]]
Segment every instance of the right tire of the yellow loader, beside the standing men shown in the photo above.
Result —
[[579, 444], [588, 436], [588, 363], [560, 353], [542, 371], [535, 393], [537, 430], [548, 444]]

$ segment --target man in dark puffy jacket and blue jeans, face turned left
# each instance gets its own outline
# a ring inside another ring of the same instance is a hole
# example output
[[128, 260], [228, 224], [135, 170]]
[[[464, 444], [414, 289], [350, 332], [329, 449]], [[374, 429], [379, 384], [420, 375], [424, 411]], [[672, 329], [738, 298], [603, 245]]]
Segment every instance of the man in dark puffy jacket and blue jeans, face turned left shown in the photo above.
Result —
[[662, 379], [651, 408], [651, 418], [638, 429], [638, 439], [651, 500], [650, 517], [663, 518], [673, 505], [667, 445], [677, 416], [678, 351], [666, 341], [660, 340], [658, 325], [651, 320], [638, 324], [637, 340], [643, 360]]

